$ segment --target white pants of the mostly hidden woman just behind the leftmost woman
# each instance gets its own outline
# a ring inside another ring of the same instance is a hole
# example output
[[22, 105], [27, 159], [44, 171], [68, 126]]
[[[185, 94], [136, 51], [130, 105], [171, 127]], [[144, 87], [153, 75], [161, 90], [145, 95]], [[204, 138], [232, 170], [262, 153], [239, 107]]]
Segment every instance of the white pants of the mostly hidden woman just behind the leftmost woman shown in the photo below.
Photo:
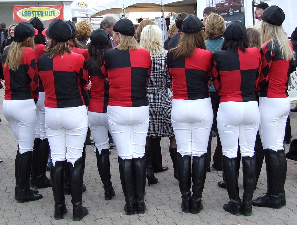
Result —
[[[36, 121], [36, 135], [39, 133], [39, 138], [41, 140], [47, 138], [45, 133], [45, 127], [44, 127], [44, 100], [45, 100], [45, 93], [39, 92], [38, 101], [36, 103], [36, 114], [37, 114], [37, 121]], [[39, 130], [38, 130], [39, 129]]]

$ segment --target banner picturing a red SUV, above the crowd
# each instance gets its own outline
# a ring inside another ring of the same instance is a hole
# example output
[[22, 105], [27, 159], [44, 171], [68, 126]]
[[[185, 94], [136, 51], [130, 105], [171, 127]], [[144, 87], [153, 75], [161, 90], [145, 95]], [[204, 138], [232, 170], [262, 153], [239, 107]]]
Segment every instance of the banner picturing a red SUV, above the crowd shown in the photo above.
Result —
[[245, 24], [243, 0], [206, 0], [206, 7], [217, 9], [217, 14], [224, 18], [226, 25], [232, 21]]

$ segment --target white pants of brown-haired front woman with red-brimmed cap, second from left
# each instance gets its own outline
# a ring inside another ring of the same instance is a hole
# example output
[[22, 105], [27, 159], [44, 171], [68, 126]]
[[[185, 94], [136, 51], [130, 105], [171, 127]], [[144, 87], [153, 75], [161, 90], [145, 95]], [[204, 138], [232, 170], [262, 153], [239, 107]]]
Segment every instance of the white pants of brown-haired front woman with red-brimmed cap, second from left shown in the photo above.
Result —
[[45, 131], [50, 144], [53, 165], [71, 162], [82, 156], [88, 130], [86, 106], [69, 108], [45, 107]]

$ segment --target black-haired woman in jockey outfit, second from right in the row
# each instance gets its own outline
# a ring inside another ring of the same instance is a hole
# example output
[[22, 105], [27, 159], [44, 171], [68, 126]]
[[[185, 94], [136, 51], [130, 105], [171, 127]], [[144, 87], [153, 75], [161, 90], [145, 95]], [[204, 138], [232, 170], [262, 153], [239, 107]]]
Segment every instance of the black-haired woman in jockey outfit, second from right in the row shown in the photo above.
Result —
[[[252, 215], [252, 197], [256, 177], [255, 140], [260, 122], [256, 86], [261, 55], [248, 48], [247, 29], [243, 23], [231, 22], [224, 32], [222, 51], [213, 55], [213, 83], [221, 96], [217, 126], [222, 143], [223, 172], [230, 202], [223, 206], [233, 215]], [[238, 190], [238, 141], [242, 156], [244, 194]]]

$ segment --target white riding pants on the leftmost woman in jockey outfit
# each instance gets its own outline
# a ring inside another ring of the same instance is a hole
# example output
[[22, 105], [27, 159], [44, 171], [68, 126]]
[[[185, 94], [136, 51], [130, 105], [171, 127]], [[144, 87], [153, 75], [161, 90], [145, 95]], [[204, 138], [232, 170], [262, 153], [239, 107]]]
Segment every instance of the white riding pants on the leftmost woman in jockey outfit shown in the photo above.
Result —
[[34, 99], [4, 99], [2, 111], [18, 140], [20, 154], [33, 151], [36, 130], [36, 105]]

